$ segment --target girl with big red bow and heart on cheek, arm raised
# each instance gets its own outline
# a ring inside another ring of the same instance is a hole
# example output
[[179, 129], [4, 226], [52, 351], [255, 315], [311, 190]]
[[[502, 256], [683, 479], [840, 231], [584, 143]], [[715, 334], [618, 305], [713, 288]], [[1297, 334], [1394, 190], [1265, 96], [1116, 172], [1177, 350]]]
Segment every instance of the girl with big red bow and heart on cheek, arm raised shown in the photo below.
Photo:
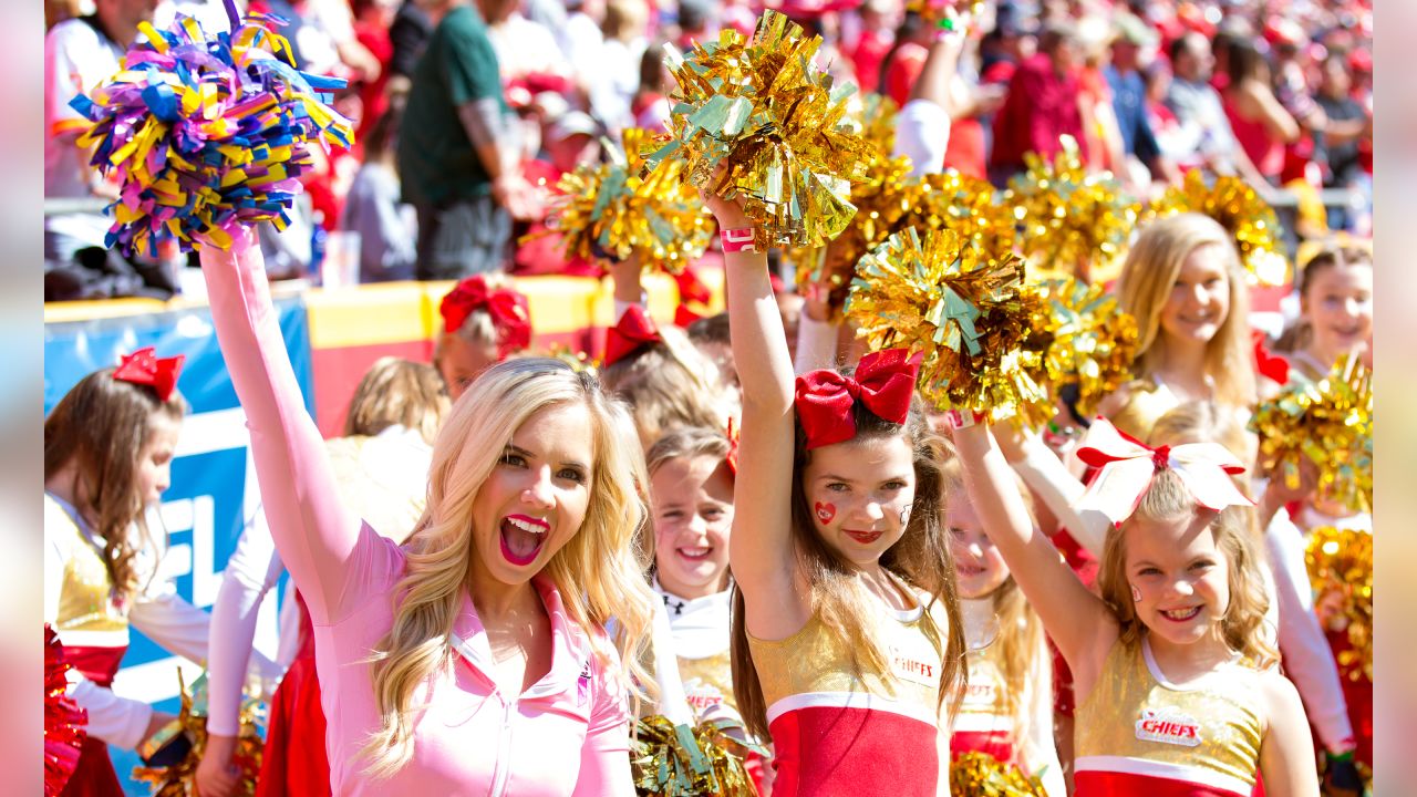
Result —
[[901, 350], [796, 381], [767, 257], [743, 210], [706, 196], [724, 240], [743, 437], [730, 562], [733, 686], [771, 737], [774, 793], [948, 790], [944, 703], [964, 630], [939, 525], [942, 440]]

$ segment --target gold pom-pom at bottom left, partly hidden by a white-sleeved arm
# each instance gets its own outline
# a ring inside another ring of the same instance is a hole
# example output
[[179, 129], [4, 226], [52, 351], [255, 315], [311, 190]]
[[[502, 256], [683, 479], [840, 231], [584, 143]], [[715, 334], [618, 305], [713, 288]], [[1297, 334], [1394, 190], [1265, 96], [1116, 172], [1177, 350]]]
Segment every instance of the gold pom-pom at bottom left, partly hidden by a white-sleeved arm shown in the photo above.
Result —
[[[154, 797], [191, 797], [197, 794], [197, 764], [201, 763], [201, 756], [207, 752], [207, 674], [203, 672], [193, 682], [188, 693], [181, 671], [177, 671], [177, 686], [181, 691], [181, 712], [177, 719], [145, 742], [140, 752], [146, 759], [174, 737], [187, 736], [191, 743], [187, 756], [166, 767], [133, 767], [133, 780], [152, 784]], [[261, 773], [265, 715], [256, 701], [247, 699], [241, 705], [238, 719], [241, 725], [237, 730], [234, 763], [241, 770], [241, 777], [237, 781], [237, 794], [251, 797], [256, 793], [256, 776]]]

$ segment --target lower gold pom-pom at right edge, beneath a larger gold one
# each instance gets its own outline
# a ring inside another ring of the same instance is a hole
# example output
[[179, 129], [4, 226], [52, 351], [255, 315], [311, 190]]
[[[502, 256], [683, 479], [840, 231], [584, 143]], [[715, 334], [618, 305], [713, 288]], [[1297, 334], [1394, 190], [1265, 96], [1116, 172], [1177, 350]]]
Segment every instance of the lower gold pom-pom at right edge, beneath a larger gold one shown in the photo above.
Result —
[[1314, 529], [1304, 560], [1321, 615], [1329, 601], [1338, 601], [1338, 613], [1328, 618], [1328, 627], [1345, 630], [1352, 645], [1352, 650], [1339, 651], [1339, 667], [1353, 681], [1372, 681], [1373, 535], [1333, 526]]

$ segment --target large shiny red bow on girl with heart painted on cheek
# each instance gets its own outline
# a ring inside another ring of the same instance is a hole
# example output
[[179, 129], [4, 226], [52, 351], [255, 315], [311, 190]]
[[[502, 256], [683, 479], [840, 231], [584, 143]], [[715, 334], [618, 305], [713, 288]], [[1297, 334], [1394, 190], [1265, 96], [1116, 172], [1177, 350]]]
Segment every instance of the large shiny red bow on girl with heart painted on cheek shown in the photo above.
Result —
[[830, 369], [808, 372], [796, 380], [796, 413], [806, 433], [808, 451], [856, 437], [856, 401], [881, 420], [903, 424], [910, 416], [920, 359], [905, 349], [886, 349], [862, 357], [856, 374]]

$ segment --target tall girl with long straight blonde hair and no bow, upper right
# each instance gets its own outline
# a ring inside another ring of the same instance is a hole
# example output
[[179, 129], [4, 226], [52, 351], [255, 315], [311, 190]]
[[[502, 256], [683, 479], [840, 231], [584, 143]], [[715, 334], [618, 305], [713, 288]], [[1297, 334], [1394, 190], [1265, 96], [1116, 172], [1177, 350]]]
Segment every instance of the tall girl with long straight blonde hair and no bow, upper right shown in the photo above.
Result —
[[1152, 421], [1190, 400], [1250, 411], [1250, 291], [1224, 227], [1196, 213], [1148, 224], [1127, 252], [1118, 303], [1141, 340], [1136, 381], [1101, 406], [1117, 428], [1145, 438]]

